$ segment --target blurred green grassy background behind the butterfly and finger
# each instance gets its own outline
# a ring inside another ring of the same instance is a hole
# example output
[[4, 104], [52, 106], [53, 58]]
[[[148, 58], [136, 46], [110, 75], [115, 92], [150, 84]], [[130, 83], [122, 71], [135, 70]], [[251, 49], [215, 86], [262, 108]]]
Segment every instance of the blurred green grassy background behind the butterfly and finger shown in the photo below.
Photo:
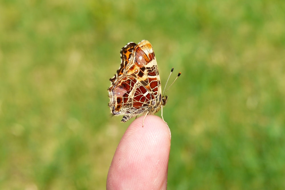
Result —
[[[108, 107], [146, 39], [172, 132], [168, 189], [285, 189], [285, 2], [0, 1], [0, 189], [105, 189], [131, 121]], [[175, 77], [172, 76], [172, 81]], [[160, 115], [158, 113], [157, 115]]]

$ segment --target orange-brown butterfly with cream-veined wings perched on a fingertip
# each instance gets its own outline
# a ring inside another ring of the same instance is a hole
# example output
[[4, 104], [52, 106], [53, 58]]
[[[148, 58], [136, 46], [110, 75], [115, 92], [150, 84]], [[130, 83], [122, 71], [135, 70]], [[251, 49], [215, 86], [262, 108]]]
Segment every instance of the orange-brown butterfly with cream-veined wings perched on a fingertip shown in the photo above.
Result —
[[[139, 44], [129, 42], [120, 53], [121, 65], [114, 77], [110, 79], [111, 86], [108, 89], [111, 113], [123, 115], [121, 122], [125, 123], [132, 117], [142, 114], [145, 114], [145, 119], [146, 115], [154, 114], [161, 109], [163, 119], [162, 107], [166, 104], [168, 97], [162, 95], [151, 44], [147, 40], [142, 40]], [[172, 71], [173, 68], [171, 73]]]

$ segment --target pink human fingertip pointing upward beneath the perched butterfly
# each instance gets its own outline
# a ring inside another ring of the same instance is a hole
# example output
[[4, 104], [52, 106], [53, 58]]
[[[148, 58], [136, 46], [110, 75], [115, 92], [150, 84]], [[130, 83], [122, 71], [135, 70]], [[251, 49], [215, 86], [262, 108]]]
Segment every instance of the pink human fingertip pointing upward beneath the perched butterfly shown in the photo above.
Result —
[[135, 119], [123, 135], [107, 176], [110, 189], [166, 189], [171, 133], [155, 115]]

